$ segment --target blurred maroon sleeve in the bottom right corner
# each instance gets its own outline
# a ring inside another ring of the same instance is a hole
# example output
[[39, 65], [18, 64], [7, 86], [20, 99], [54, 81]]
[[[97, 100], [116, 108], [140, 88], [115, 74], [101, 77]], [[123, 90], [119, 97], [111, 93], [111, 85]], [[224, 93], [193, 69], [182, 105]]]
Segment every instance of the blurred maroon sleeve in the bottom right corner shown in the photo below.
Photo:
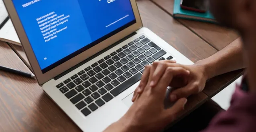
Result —
[[256, 95], [234, 100], [203, 132], [256, 132]]

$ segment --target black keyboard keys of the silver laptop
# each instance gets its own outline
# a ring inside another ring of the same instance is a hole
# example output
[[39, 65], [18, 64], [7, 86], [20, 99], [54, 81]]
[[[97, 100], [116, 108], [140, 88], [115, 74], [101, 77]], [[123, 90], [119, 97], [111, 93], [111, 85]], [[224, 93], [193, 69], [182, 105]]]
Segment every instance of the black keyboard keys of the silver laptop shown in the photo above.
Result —
[[88, 116], [138, 82], [144, 67], [155, 60], [165, 60], [162, 56], [166, 53], [142, 35], [56, 87]]

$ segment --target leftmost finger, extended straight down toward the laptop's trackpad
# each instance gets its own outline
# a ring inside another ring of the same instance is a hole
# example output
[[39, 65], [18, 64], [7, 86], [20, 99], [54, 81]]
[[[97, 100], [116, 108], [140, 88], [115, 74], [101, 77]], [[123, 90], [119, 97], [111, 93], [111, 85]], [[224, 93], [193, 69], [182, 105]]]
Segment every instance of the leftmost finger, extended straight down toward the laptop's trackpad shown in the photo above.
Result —
[[133, 94], [133, 97], [132, 97], [132, 102], [134, 102], [136, 100], [138, 94], [142, 93], [142, 91], [144, 90], [144, 87], [148, 83], [150, 70], [151, 70], [151, 65], [148, 65], [148, 66], [145, 67], [145, 70], [144, 70], [144, 72], [142, 74], [142, 77], [140, 79], [140, 84], [138, 85], [138, 87], [134, 91], [134, 94]]

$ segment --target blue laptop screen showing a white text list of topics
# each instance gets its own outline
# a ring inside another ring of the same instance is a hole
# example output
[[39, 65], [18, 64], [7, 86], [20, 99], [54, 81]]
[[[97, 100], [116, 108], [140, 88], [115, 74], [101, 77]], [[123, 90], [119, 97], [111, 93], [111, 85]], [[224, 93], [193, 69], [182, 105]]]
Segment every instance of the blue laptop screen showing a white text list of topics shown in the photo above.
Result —
[[12, 0], [43, 73], [136, 23], [130, 0]]

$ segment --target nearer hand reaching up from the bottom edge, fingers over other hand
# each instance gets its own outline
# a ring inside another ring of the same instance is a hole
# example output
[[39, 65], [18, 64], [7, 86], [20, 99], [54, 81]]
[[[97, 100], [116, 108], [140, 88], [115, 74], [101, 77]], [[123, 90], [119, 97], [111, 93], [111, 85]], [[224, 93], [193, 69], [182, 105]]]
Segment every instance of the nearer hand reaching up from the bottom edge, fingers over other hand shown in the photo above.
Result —
[[189, 71], [182, 67], [167, 67], [162, 72], [158, 72], [161, 77], [158, 80], [154, 80], [155, 85], [151, 86], [156, 69], [158, 67], [146, 66], [143, 76], [148, 76], [148, 79], [144, 92], [137, 96], [136, 101], [128, 112], [118, 122], [109, 126], [105, 132], [151, 132], [162, 130], [184, 110], [187, 102], [186, 98], [180, 98], [171, 108], [165, 109], [165, 92], [175, 76], [180, 74], [187, 76]]

